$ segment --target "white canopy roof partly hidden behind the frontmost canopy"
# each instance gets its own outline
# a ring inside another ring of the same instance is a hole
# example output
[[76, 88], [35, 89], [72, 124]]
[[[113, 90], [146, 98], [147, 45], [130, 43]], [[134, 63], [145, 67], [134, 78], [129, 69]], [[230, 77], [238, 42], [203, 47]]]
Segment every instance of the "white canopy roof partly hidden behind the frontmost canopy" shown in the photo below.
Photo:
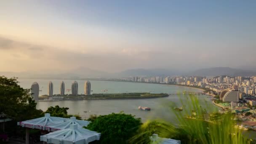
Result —
[[[85, 120], [77, 120], [76, 117], [70, 117], [64, 123], [57, 123], [51, 125], [51, 128], [63, 130], [69, 128], [72, 124], [77, 124], [78, 128], [83, 128], [83, 126], [87, 126], [90, 122]], [[53, 129], [53, 130], [54, 130]]]

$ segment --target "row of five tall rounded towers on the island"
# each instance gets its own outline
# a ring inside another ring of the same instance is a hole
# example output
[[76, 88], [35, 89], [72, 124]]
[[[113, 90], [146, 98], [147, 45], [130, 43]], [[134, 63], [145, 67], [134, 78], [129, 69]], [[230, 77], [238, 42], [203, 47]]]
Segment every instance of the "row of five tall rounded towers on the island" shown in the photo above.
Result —
[[[53, 83], [49, 81], [48, 83], [48, 96], [53, 96]], [[85, 95], [91, 95], [91, 83], [89, 81], [85, 81]], [[77, 81], [73, 81], [71, 85], [71, 91], [73, 96], [78, 95], [78, 83]], [[38, 99], [39, 97], [39, 85], [37, 82], [32, 83], [31, 85], [31, 94], [34, 99]], [[61, 87], [60, 87], [60, 95], [65, 95], [65, 83], [64, 81], [61, 81]]]

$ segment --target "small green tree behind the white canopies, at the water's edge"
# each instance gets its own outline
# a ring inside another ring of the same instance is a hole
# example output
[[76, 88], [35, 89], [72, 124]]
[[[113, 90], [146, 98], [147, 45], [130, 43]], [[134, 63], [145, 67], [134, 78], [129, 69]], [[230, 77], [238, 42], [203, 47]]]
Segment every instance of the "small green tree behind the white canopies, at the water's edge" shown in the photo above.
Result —
[[52, 117], [76, 117], [77, 120], [82, 120], [79, 115], [68, 115], [68, 109], [68, 107], [59, 107], [58, 105], [56, 105], [55, 107], [48, 107], [45, 113], [50, 113]]

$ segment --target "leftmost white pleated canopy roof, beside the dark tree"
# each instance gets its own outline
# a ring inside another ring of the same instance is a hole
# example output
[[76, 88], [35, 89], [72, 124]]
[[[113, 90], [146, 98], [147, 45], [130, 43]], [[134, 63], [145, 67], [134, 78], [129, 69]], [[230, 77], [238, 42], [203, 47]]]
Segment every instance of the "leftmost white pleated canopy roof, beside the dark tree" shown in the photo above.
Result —
[[18, 122], [17, 125], [21, 125], [25, 128], [36, 128], [46, 131], [57, 131], [59, 129], [52, 128], [51, 125], [64, 123], [67, 120], [69, 119], [62, 117], [51, 117], [49, 113], [46, 113], [44, 117]]

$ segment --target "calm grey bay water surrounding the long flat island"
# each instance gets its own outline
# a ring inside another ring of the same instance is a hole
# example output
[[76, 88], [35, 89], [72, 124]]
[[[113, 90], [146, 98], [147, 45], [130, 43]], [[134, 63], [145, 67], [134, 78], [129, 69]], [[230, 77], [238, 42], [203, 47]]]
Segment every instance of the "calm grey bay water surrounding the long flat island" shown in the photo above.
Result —
[[[30, 88], [33, 82], [37, 82], [40, 87], [40, 95], [47, 94], [47, 85], [50, 80], [32, 80], [19, 79], [23, 88]], [[51, 80], [53, 82], [53, 94], [60, 93], [60, 83], [62, 80]], [[71, 88], [72, 80], [63, 80], [65, 89]], [[76, 80], [79, 93], [84, 93], [85, 80]], [[92, 93], [125, 93], [125, 92], [151, 92], [151, 93], [178, 93], [183, 91], [201, 91], [196, 88], [188, 88], [174, 85], [150, 84], [150, 83], [132, 83], [132, 82], [112, 82], [90, 80]], [[65, 91], [71, 93], [71, 91]], [[209, 96], [200, 95], [202, 107], [207, 107], [209, 111], [218, 110], [218, 107], [211, 103]], [[185, 104], [181, 104], [181, 101]], [[91, 114], [106, 115], [111, 112], [125, 112], [136, 117], [141, 117], [142, 121], [149, 119], [174, 120], [174, 114], [171, 111], [173, 107], [186, 107], [189, 102], [188, 96], [171, 95], [165, 98], [157, 99], [124, 99], [124, 100], [83, 100], [83, 101], [38, 101], [37, 109], [45, 111], [48, 107], [59, 105], [60, 107], [69, 107], [69, 114], [78, 114], [83, 118], [88, 118]], [[141, 111], [139, 106], [150, 107], [151, 111]]]

